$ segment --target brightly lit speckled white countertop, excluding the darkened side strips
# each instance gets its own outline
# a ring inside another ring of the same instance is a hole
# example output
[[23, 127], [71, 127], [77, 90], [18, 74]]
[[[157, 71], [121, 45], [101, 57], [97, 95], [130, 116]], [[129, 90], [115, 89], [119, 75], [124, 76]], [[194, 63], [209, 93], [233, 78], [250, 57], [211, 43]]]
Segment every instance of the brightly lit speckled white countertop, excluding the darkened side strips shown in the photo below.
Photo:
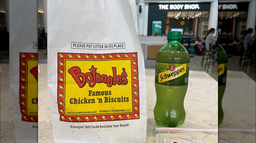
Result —
[[[39, 64], [38, 71], [38, 143], [53, 142], [51, 104], [47, 88], [47, 64]], [[156, 103], [155, 70], [146, 69], [147, 82], [147, 142], [155, 142], [156, 124], [154, 106]], [[184, 100], [186, 119], [178, 127], [218, 128], [218, 83], [204, 71], [190, 71], [188, 90]], [[218, 135], [215, 135], [218, 136]]]

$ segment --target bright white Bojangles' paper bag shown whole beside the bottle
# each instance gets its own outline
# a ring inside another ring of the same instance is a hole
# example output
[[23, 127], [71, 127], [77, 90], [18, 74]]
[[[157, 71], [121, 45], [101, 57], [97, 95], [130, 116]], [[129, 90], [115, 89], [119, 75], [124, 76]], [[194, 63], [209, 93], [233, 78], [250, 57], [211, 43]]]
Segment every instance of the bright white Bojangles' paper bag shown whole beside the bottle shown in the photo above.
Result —
[[48, 1], [55, 143], [146, 142], [146, 79], [134, 0]]

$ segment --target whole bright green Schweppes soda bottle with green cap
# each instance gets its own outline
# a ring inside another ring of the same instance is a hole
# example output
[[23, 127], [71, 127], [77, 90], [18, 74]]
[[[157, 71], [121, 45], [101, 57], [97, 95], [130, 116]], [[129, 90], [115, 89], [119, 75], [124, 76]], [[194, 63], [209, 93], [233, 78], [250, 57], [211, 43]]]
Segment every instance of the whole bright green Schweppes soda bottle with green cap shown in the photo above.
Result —
[[156, 57], [154, 117], [159, 125], [176, 127], [186, 117], [183, 103], [188, 87], [190, 55], [181, 44], [180, 31], [169, 31], [167, 40]]

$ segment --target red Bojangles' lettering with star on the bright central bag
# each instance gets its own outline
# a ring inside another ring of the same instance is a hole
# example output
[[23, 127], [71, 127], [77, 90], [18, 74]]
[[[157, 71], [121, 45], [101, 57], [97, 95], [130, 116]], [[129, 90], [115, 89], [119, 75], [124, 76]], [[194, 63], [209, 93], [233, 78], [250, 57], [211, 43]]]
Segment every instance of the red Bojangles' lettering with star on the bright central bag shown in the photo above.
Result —
[[113, 76], [97, 73], [97, 68], [94, 68], [92, 65], [92, 68], [89, 69], [90, 72], [83, 73], [81, 72], [81, 69], [77, 66], [74, 66], [68, 70], [68, 72], [71, 74], [71, 76], [74, 78], [76, 84], [82, 88], [86, 85], [86, 83], [89, 84], [90, 87], [94, 87], [96, 83], [105, 83], [107, 84], [107, 87], [112, 87], [113, 85], [127, 85], [127, 73], [125, 72], [125, 68], [122, 68], [123, 72], [121, 75], [117, 75], [116, 67], [112, 67]]

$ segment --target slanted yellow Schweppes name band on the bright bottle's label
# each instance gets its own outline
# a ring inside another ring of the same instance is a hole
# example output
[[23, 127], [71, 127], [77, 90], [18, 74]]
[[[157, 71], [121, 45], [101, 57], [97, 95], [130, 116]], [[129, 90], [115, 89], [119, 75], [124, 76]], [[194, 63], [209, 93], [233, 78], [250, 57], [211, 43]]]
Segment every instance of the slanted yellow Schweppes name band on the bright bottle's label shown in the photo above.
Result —
[[160, 72], [158, 76], [158, 82], [163, 83], [169, 80], [173, 80], [185, 74], [186, 71], [187, 71], [187, 64], [183, 64], [179, 67], [176, 67], [174, 71], [168, 70], [168, 71]]

